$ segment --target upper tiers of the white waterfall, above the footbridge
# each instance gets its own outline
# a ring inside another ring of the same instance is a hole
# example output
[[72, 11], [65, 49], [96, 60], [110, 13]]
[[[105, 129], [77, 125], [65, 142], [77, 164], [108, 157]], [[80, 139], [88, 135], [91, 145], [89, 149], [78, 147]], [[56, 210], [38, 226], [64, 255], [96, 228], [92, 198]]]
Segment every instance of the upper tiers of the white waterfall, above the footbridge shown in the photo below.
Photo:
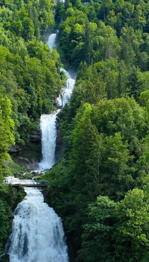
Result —
[[[48, 45], [50, 49], [55, 47], [56, 34], [49, 36]], [[69, 101], [70, 95], [75, 84], [75, 80], [71, 78], [69, 73], [61, 68], [67, 76], [66, 87], [62, 90], [62, 93], [57, 98], [57, 107], [64, 107]], [[50, 115], [42, 115], [40, 119], [41, 128], [41, 141], [42, 141], [42, 160], [39, 164], [40, 169], [51, 168], [55, 163], [55, 148], [56, 148], [56, 117], [59, 109]]]

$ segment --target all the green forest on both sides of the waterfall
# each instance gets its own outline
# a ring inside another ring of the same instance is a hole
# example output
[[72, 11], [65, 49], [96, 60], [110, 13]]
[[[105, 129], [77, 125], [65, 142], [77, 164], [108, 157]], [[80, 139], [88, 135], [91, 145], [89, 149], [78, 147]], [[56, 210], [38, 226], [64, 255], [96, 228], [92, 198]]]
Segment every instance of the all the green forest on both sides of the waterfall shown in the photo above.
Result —
[[41, 179], [70, 259], [149, 261], [148, 0], [1, 0], [0, 56], [1, 252], [24, 197], [3, 184], [8, 149], [29, 143], [41, 114], [54, 110], [63, 63], [77, 72], [58, 114], [65, 156]]

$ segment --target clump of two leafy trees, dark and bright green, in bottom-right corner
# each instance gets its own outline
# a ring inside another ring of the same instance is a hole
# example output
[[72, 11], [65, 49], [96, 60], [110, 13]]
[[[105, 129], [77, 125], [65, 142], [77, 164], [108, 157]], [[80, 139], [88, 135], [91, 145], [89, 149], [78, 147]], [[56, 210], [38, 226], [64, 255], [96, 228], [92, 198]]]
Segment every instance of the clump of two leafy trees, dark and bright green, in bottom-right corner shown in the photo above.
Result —
[[148, 261], [148, 198], [143, 190], [130, 190], [119, 203], [99, 196], [86, 213], [81, 261]]

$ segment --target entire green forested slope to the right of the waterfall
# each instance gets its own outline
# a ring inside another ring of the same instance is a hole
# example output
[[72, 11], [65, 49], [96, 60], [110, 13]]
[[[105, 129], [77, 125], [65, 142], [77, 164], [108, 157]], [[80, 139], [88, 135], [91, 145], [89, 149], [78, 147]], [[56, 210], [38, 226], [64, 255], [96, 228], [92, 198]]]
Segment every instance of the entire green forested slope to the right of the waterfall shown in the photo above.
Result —
[[72, 261], [149, 261], [149, 2], [57, 1], [58, 50], [78, 69], [46, 173]]

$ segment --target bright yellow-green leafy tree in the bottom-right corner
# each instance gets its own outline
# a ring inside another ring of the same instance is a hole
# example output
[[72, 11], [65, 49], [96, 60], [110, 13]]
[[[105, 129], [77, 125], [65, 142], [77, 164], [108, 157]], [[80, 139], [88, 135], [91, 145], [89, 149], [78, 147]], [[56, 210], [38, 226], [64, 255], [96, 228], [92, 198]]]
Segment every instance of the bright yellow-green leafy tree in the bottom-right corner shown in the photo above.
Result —
[[118, 223], [114, 234], [117, 261], [148, 261], [149, 210], [148, 199], [142, 190], [129, 191], [117, 203]]

